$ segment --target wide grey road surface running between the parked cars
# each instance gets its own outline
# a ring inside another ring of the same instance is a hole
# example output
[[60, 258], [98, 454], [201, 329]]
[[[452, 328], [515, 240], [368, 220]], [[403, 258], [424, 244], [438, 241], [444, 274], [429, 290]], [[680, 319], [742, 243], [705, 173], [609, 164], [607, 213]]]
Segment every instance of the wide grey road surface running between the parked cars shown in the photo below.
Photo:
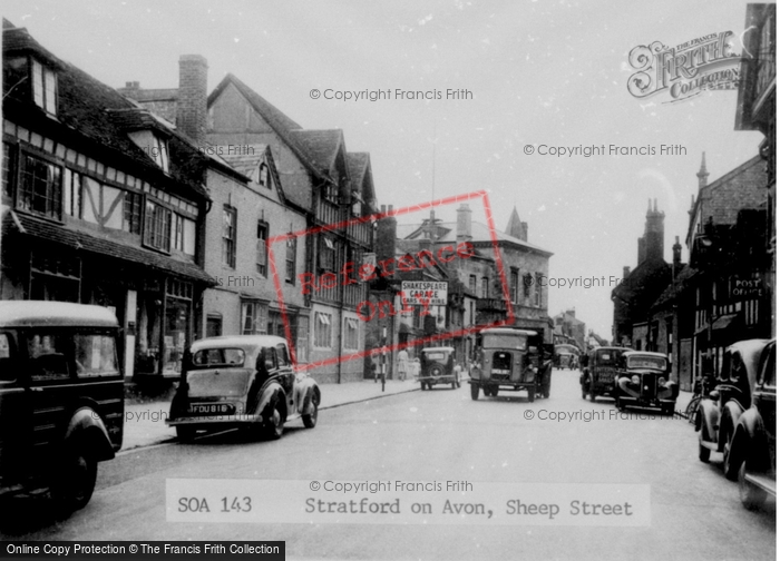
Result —
[[[91, 502], [65, 521], [41, 522], [43, 500], [14, 500], [0, 514], [0, 538], [284, 540], [289, 559], [774, 559], [776, 503], [744, 510], [720, 456], [699, 462], [690, 424], [657, 414], [610, 420], [613, 402], [582, 400], [578, 374], [555, 371], [550, 398], [535, 403], [525, 392], [474, 402], [467, 384], [440, 386], [323, 411], [314, 430], [294, 423], [276, 442], [232, 433], [131, 451], [100, 464]], [[553, 411], [583, 415], [539, 420]], [[585, 422], [586, 413], [594, 420]], [[173, 478], [640, 483], [651, 486], [652, 523], [175, 523], [166, 521], [165, 505]]]

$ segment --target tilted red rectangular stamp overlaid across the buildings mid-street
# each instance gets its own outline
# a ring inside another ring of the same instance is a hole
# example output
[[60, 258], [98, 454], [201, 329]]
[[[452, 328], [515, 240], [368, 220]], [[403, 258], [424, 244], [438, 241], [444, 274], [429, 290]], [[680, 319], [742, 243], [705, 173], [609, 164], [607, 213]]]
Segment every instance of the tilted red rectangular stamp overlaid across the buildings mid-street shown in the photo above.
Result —
[[[475, 204], [484, 222], [471, 218]], [[369, 225], [373, 242], [355, 243], [355, 225]], [[456, 361], [468, 361], [478, 332], [515, 324], [511, 291], [519, 285], [514, 269], [511, 288], [507, 282], [500, 236], [480, 190], [270, 237], [269, 263], [296, 370], [430, 346], [452, 347]], [[311, 248], [294, 279], [277, 270], [274, 246], [281, 243]], [[291, 326], [284, 298], [291, 289], [311, 312], [308, 341]]]

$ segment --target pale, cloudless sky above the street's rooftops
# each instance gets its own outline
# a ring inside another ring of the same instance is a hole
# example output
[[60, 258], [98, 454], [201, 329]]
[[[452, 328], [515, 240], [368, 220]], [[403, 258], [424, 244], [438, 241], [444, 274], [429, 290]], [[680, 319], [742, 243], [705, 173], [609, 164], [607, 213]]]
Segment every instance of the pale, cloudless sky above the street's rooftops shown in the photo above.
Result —
[[[628, 53], [637, 46], [732, 31], [741, 52], [741, 1], [0, 6], [56, 56], [115, 88], [176, 87], [179, 56], [203, 55], [209, 90], [232, 72], [302, 127], [342, 129], [348, 150], [369, 151], [380, 205], [486, 190], [498, 228], [516, 207], [528, 242], [554, 254], [549, 276], [566, 286], [549, 287], [549, 315], [575, 308], [606, 338], [610, 277], [637, 264], [647, 200], [665, 213], [666, 259], [680, 236], [686, 260], [702, 152], [712, 181], [755, 156], [762, 140], [734, 130], [735, 90], [670, 102], [667, 92], [640, 99], [627, 89], [636, 71]], [[447, 99], [448, 89], [460, 99]], [[368, 99], [379, 90], [390, 95]], [[406, 91], [432, 99], [407, 99]], [[655, 154], [608, 155], [611, 145]], [[549, 154], [591, 146], [605, 154]], [[454, 210], [441, 208], [441, 217], [455, 219]], [[480, 213], [474, 219], [485, 223]]]

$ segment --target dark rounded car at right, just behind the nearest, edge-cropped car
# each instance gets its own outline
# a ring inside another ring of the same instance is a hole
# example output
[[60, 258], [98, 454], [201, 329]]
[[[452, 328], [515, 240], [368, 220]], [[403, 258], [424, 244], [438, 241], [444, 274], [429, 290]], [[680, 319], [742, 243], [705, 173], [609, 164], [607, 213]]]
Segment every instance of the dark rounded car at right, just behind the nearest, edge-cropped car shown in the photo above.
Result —
[[759, 361], [768, 343], [747, 339], [727, 347], [715, 388], [699, 403], [699, 460], [706, 463], [711, 452], [722, 452], [723, 473], [732, 481], [738, 478], [740, 464], [731, 455], [731, 441], [740, 415], [753, 401]]

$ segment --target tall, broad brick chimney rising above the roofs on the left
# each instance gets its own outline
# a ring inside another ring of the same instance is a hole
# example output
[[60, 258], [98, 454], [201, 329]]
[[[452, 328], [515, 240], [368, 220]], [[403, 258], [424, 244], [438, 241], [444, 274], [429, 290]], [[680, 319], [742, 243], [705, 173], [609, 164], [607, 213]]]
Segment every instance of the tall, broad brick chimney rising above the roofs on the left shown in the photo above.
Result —
[[206, 144], [208, 63], [201, 55], [178, 59], [178, 106], [176, 126], [196, 145]]

